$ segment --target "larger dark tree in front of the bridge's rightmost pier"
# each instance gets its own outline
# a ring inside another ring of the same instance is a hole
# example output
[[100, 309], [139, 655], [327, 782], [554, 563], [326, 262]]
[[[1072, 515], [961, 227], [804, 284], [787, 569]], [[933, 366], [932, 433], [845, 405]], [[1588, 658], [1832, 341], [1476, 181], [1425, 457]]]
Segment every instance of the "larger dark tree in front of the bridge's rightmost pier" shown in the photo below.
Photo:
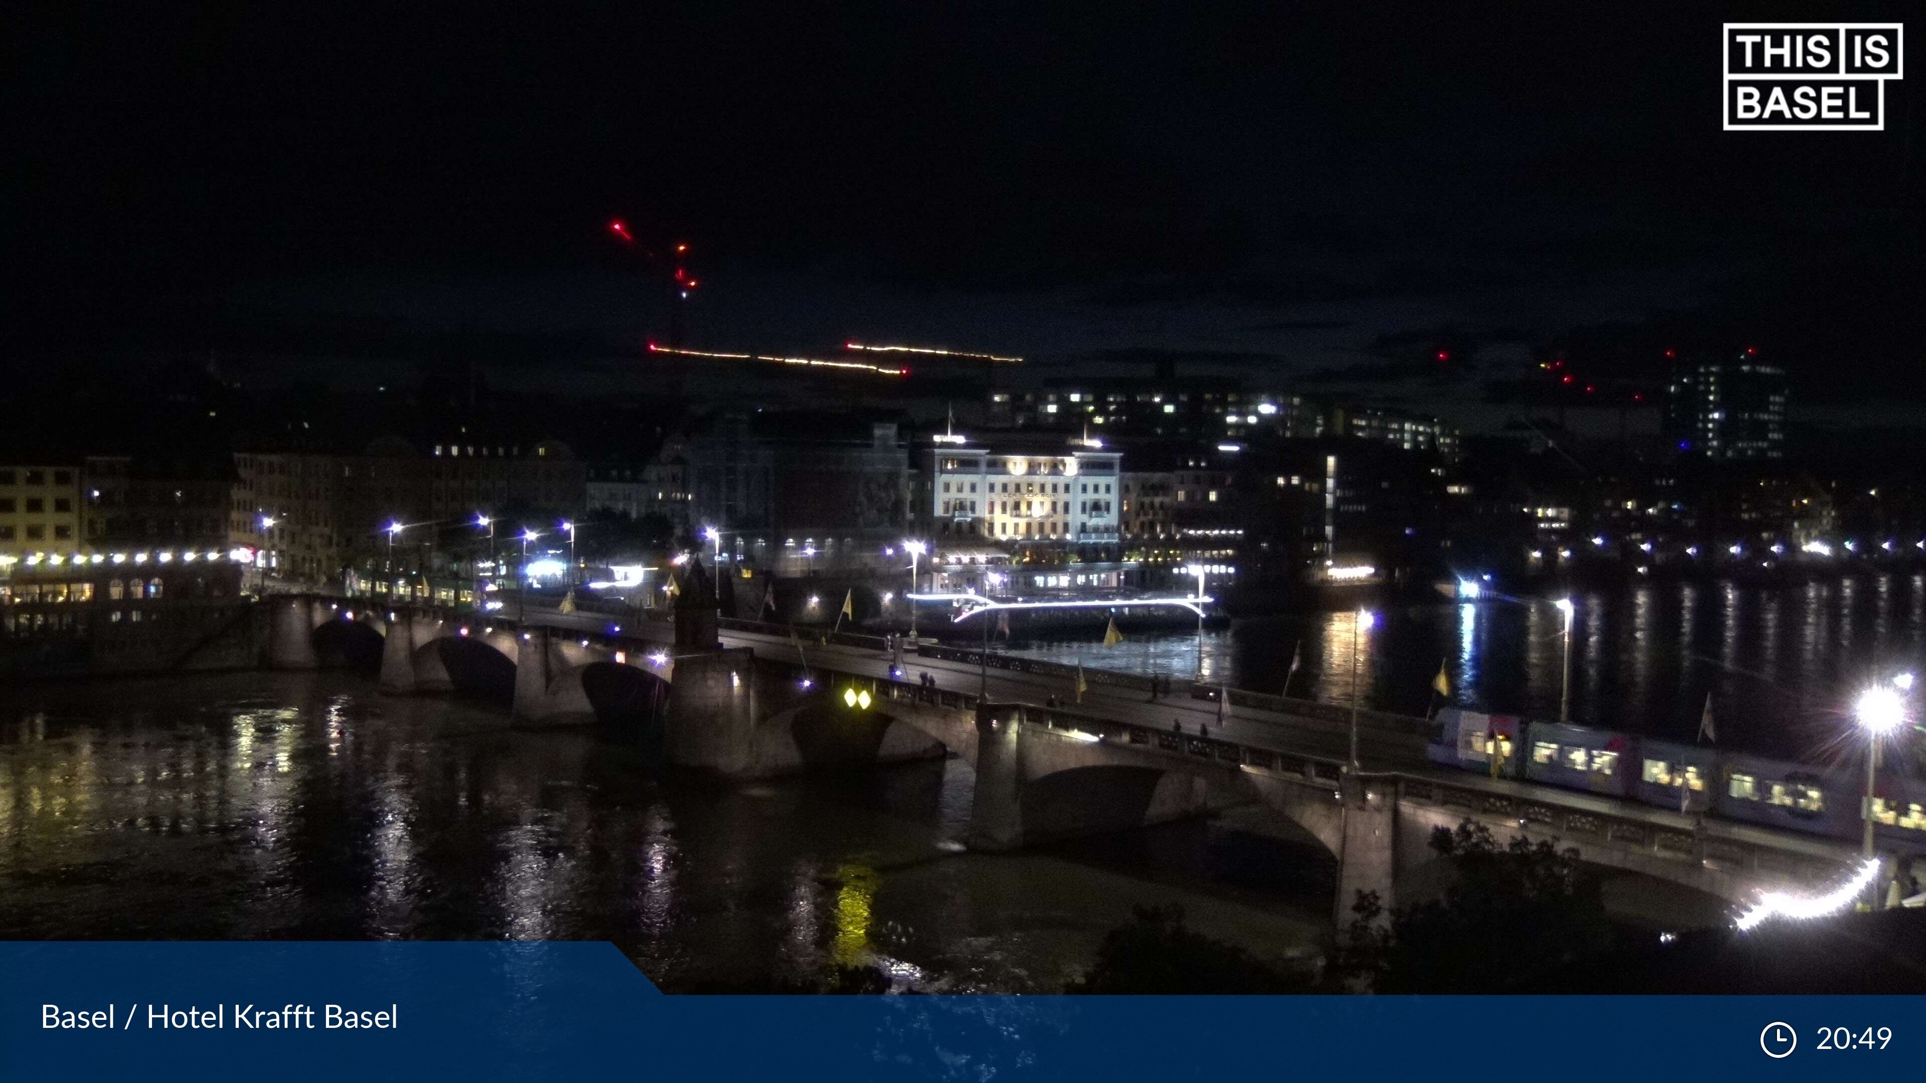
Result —
[[1498, 846], [1464, 821], [1431, 832], [1450, 861], [1444, 896], [1385, 921], [1375, 892], [1358, 892], [1333, 969], [1377, 992], [1508, 992], [1612, 946], [1599, 879], [1577, 850], [1523, 836]]

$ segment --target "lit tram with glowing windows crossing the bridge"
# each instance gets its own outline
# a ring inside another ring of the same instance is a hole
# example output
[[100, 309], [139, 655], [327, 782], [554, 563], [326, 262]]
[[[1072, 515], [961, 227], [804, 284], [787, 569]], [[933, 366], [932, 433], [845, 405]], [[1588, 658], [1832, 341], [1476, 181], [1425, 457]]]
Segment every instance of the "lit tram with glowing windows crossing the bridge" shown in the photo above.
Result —
[[[1859, 840], [1864, 831], [1862, 773], [1787, 763], [1716, 748], [1595, 730], [1566, 723], [1531, 723], [1448, 707], [1427, 755], [1433, 763], [1525, 779], [1564, 790], [1606, 794], [1678, 811], [1679, 786], [1689, 809], [1722, 819]], [[1493, 750], [1497, 746], [1497, 750]], [[1884, 771], [1874, 780], [1874, 836], [1889, 850], [1926, 858], [1926, 780]]]

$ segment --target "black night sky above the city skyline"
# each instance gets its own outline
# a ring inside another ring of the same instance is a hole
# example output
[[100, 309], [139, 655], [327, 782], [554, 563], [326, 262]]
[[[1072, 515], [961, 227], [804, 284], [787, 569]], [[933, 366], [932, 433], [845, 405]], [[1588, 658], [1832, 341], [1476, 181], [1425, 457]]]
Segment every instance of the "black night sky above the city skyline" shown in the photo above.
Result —
[[620, 216], [695, 247], [690, 345], [1177, 353], [1471, 422], [1550, 353], [1757, 345], [1810, 420], [1926, 403], [1926, 73], [1884, 133], [1720, 131], [1720, 21], [1911, 6], [1034, 8], [42, 13], [6, 364], [607, 389], [657, 320]]

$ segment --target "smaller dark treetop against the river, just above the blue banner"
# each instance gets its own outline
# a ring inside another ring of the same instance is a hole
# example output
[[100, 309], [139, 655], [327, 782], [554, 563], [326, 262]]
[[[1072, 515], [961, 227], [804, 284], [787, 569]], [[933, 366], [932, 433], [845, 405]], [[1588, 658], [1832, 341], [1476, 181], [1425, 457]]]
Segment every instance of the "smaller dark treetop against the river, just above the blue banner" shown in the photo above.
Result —
[[1314, 979], [1184, 927], [1181, 906], [1138, 906], [1065, 992], [1310, 992]]

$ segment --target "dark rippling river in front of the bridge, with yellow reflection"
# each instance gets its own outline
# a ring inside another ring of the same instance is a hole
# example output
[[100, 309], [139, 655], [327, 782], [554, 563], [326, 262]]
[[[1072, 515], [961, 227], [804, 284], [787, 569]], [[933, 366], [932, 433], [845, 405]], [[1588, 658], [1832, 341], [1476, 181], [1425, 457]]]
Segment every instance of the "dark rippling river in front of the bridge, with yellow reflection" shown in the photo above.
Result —
[[726, 786], [347, 674], [0, 690], [0, 938], [612, 940], [670, 991], [1059, 991], [1138, 904], [1267, 958], [1335, 863], [1262, 821], [967, 854], [959, 759]]

